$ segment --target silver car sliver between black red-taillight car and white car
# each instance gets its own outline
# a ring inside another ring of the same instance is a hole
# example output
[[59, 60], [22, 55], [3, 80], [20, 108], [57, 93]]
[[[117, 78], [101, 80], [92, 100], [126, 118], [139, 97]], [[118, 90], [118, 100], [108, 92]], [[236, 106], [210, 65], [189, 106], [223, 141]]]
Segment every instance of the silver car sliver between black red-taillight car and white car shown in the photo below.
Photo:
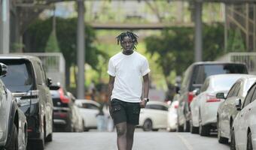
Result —
[[75, 104], [76, 98], [74, 97], [74, 95], [72, 95], [71, 92], [67, 92], [69, 98], [71, 98], [72, 100], [72, 110], [73, 110], [73, 117], [72, 117], [72, 122], [74, 122], [74, 131], [75, 132], [83, 132], [84, 131], [84, 121], [83, 121], [83, 117], [80, 113], [80, 110], [78, 108], [78, 106]]

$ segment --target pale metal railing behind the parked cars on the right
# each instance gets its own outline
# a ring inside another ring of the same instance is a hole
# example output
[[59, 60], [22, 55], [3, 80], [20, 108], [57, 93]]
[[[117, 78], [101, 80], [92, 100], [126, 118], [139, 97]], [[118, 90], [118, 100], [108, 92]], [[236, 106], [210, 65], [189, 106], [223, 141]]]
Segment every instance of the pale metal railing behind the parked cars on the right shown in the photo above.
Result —
[[242, 62], [249, 74], [256, 74], [256, 52], [230, 52], [218, 58], [219, 62]]

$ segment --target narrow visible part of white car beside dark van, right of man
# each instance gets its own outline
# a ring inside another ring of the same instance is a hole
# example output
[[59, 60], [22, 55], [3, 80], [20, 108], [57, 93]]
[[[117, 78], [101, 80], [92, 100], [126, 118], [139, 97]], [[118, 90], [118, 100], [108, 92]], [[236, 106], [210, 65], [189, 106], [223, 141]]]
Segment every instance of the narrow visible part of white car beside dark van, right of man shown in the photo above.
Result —
[[178, 101], [173, 101], [171, 106], [168, 109], [167, 114], [167, 130], [175, 131], [177, 128], [177, 109], [178, 109]]

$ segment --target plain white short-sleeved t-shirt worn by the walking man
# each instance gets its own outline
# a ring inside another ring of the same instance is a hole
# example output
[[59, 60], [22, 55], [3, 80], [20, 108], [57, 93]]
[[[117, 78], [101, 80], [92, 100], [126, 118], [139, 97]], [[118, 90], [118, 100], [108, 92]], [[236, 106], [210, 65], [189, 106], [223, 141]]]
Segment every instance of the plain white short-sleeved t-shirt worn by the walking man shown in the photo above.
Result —
[[142, 96], [143, 76], [150, 72], [148, 60], [139, 52], [124, 55], [118, 52], [108, 62], [108, 74], [114, 79], [111, 100], [138, 103]]

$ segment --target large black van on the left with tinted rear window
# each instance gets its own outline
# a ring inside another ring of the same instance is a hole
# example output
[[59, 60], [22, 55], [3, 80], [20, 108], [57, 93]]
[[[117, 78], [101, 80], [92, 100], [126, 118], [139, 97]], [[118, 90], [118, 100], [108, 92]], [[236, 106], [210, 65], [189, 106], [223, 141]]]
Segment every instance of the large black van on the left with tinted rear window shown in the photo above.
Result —
[[53, 101], [41, 61], [29, 55], [0, 55], [0, 62], [8, 65], [3, 83], [19, 98], [20, 110], [28, 122], [29, 146], [44, 149], [44, 141], [52, 140]]

